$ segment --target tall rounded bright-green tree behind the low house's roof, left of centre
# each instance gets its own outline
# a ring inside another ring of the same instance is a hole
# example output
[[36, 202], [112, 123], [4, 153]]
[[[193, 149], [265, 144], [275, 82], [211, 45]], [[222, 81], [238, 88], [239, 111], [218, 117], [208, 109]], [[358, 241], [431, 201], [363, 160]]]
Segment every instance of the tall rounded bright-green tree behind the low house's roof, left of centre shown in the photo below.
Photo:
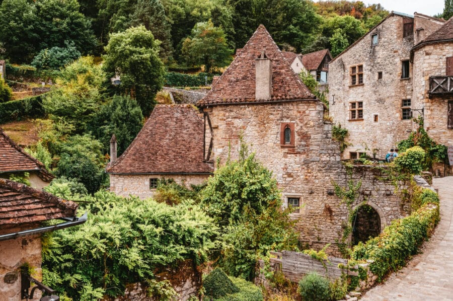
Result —
[[159, 59], [159, 42], [144, 26], [112, 34], [105, 47], [103, 68], [107, 78], [121, 78], [119, 90], [130, 95], [148, 116], [155, 105], [156, 93], [164, 82], [164, 64]]

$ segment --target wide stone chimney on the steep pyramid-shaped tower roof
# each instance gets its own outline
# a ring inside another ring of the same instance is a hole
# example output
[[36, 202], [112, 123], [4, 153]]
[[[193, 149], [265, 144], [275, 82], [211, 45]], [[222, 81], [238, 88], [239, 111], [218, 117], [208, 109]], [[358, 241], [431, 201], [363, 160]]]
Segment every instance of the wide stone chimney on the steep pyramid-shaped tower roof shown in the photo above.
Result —
[[272, 98], [272, 61], [261, 51], [256, 62], [255, 99], [270, 100]]

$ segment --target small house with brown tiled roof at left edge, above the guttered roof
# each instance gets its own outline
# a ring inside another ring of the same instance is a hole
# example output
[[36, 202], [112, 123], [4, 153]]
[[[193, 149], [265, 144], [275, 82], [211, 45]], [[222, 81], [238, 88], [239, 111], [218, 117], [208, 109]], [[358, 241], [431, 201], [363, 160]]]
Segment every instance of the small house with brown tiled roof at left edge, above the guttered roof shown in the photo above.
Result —
[[10, 175], [24, 176], [32, 187], [42, 189], [49, 185], [53, 176], [44, 165], [25, 153], [10, 137], [0, 128], [0, 178], [9, 178]]

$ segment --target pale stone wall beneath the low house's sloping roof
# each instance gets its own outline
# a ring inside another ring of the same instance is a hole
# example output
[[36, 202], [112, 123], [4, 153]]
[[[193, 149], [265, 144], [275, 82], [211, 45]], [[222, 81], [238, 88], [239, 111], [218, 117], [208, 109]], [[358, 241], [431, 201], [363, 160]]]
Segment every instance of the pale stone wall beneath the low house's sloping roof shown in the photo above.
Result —
[[200, 185], [207, 180], [209, 175], [117, 175], [110, 174], [110, 191], [117, 195], [138, 196], [140, 199], [152, 197], [156, 189], [149, 189], [149, 179], [173, 179], [176, 183], [190, 188], [191, 184]]

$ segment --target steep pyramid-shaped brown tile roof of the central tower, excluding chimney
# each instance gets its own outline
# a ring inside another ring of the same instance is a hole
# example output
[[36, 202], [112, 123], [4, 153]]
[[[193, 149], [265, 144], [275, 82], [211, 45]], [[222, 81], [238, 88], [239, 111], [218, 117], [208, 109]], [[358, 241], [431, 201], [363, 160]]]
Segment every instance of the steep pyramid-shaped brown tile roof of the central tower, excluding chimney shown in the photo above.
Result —
[[[264, 51], [272, 60], [271, 100], [255, 99], [255, 59]], [[198, 106], [313, 100], [315, 96], [292, 71], [278, 46], [263, 25], [260, 25], [250, 40], [238, 53], [228, 69], [212, 86], [211, 91], [200, 100]]]

